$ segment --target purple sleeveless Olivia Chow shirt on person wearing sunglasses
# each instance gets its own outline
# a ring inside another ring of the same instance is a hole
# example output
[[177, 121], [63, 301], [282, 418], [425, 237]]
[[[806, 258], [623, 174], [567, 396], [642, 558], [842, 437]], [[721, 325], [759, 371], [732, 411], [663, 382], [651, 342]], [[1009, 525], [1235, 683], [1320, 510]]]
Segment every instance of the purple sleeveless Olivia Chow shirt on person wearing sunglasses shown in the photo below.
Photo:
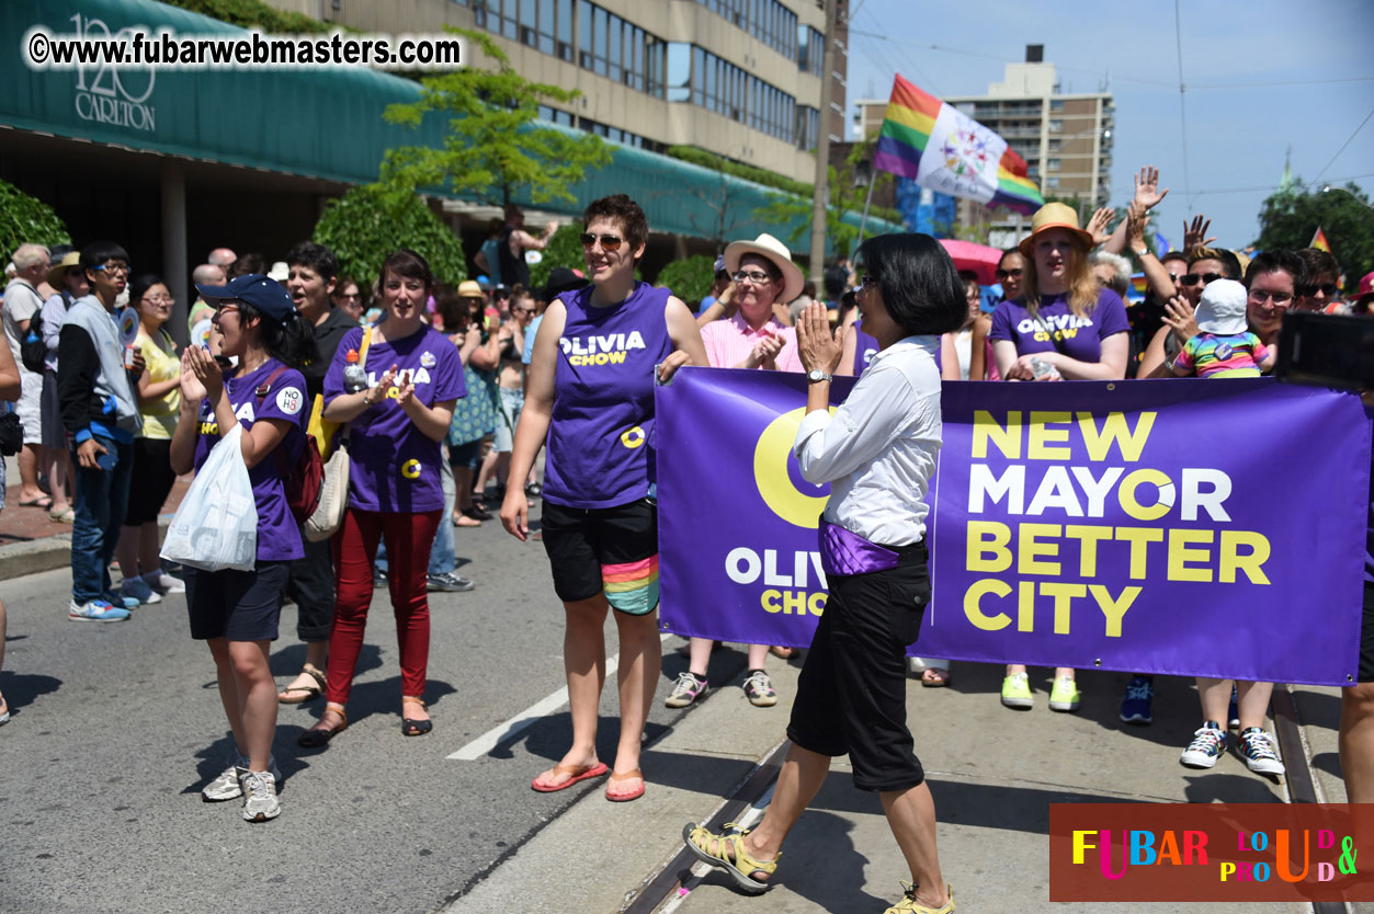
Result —
[[654, 482], [654, 365], [673, 351], [666, 288], [635, 283], [614, 307], [591, 305], [594, 287], [563, 292], [548, 423], [544, 500], [566, 508], [616, 508]]

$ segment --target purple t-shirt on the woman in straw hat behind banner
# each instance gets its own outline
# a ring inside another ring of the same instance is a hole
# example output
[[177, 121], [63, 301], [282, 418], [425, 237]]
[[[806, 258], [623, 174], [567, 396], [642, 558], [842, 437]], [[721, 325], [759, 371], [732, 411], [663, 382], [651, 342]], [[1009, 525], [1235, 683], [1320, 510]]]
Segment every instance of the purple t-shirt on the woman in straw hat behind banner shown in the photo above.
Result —
[[1125, 303], [1109, 288], [1098, 292], [1098, 305], [1085, 317], [1074, 317], [1069, 310], [1069, 295], [1059, 294], [1040, 299], [1036, 318], [1025, 303], [1013, 298], [992, 312], [988, 339], [1006, 339], [1017, 344], [1017, 355], [1028, 353], [1057, 353], [1050, 333], [1059, 339], [1063, 354], [1080, 362], [1102, 361], [1102, 340], [1116, 333], [1129, 332]]

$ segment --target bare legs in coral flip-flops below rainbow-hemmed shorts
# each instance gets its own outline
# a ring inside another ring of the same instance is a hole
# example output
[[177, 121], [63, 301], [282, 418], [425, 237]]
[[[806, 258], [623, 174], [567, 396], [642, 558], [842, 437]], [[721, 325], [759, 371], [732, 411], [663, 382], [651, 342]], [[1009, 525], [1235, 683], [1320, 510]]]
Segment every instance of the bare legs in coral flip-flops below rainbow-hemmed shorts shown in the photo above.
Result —
[[[596, 722], [602, 686], [606, 683], [606, 613], [610, 604], [603, 594], [577, 602], [565, 602], [567, 627], [563, 631], [563, 668], [567, 672], [567, 700], [572, 705], [573, 744], [562, 758], [562, 766], [596, 764]], [[616, 613], [620, 635], [620, 744], [616, 749], [614, 771], [633, 771], [639, 767], [639, 751], [649, 719], [649, 705], [658, 685], [662, 667], [662, 640], [658, 635], [658, 613], [642, 616]], [[541, 786], [556, 786], [572, 775], [539, 775]], [[620, 781], [620, 792], [638, 789], [633, 780]]]

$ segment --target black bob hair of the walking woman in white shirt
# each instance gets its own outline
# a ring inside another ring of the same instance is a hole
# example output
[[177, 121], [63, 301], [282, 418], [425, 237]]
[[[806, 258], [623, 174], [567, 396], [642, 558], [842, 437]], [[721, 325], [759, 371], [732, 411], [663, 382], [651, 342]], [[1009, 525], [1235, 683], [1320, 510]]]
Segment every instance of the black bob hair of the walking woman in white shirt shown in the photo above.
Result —
[[868, 281], [908, 333], [952, 333], [969, 318], [963, 280], [940, 242], [912, 232], [878, 235], [859, 246]]

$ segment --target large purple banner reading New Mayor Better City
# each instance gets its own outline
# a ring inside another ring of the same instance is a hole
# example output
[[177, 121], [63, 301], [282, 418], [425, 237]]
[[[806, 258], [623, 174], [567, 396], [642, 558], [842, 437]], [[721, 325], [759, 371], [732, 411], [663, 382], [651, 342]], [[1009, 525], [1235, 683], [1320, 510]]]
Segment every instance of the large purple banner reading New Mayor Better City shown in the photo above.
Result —
[[[791, 457], [804, 405], [805, 380], [780, 372], [684, 369], [658, 390], [665, 630], [809, 644], [829, 493]], [[1352, 681], [1359, 398], [1268, 379], [962, 382], [943, 410], [933, 596], [912, 653]]]

